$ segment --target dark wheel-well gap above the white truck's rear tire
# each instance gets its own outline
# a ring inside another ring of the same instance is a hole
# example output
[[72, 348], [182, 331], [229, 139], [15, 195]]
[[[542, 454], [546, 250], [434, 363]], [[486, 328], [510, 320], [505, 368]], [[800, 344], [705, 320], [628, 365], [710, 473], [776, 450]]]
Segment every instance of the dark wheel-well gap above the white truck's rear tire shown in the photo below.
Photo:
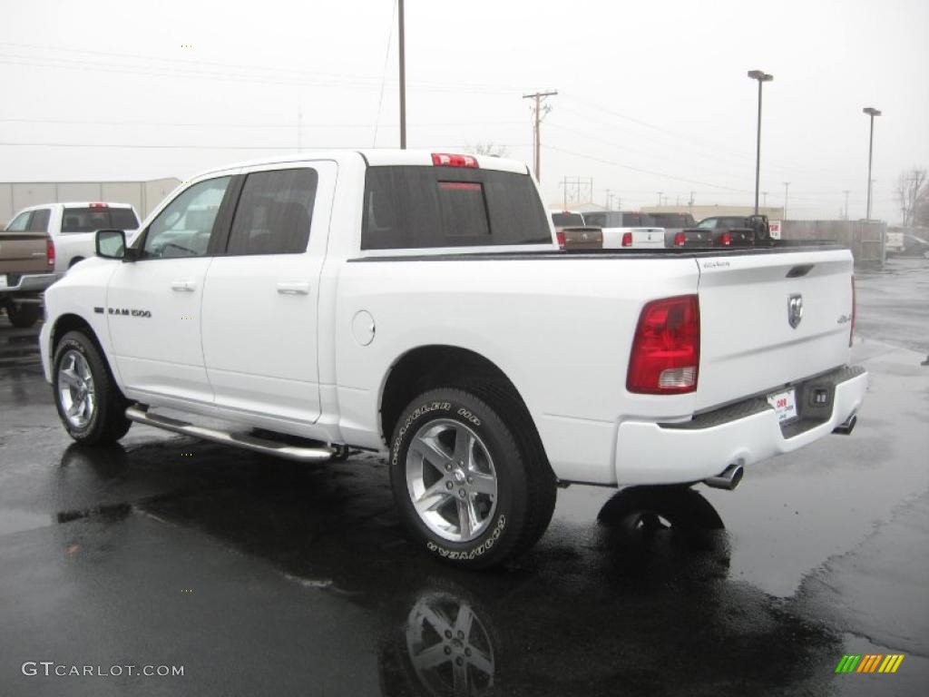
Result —
[[517, 419], [515, 435], [550, 467], [539, 430], [513, 381], [487, 357], [456, 346], [420, 346], [408, 350], [393, 363], [378, 401], [384, 442], [389, 443], [404, 407], [433, 388], [464, 389], [498, 408], [512, 409]]

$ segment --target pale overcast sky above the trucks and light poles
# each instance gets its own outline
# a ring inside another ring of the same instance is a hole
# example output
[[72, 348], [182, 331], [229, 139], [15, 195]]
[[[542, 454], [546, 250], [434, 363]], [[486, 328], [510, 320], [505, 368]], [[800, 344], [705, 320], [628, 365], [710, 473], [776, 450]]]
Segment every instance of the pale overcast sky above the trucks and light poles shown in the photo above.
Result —
[[[312, 147], [399, 144], [395, 0], [254, 3], [0, 0], [0, 180], [189, 178]], [[929, 2], [407, 0], [408, 145], [493, 142], [531, 160], [546, 201], [594, 179], [622, 208], [751, 204], [757, 84], [761, 190], [791, 217], [874, 215], [929, 166]], [[389, 42], [389, 43], [388, 43]], [[297, 124], [302, 123], [302, 128]]]

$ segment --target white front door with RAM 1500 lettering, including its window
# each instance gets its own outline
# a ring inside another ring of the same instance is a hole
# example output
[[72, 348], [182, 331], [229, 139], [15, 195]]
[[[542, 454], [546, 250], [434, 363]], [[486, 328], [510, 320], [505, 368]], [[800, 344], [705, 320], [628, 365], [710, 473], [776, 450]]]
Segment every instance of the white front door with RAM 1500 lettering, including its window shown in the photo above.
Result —
[[120, 264], [107, 292], [116, 365], [138, 401], [165, 395], [210, 403], [201, 305], [210, 239], [231, 176], [193, 184], [143, 230], [136, 261]]

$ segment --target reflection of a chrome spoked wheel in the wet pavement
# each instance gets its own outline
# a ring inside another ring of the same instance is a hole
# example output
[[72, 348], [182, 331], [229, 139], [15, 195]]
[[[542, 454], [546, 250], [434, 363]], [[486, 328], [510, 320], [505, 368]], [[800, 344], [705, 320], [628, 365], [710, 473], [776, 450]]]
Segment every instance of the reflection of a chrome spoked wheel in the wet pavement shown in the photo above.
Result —
[[493, 685], [493, 645], [471, 605], [444, 593], [420, 598], [406, 626], [416, 675], [434, 695], [479, 695]]

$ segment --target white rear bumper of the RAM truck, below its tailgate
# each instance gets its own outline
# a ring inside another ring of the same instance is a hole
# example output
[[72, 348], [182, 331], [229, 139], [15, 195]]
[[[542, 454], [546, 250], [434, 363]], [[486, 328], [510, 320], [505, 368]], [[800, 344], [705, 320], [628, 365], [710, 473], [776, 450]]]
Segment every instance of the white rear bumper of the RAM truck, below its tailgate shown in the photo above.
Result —
[[831, 411], [810, 408], [782, 427], [764, 399], [739, 402], [686, 424], [625, 421], [616, 444], [616, 475], [624, 484], [673, 484], [705, 480], [731, 464], [749, 466], [790, 453], [827, 436], [856, 414], [868, 389], [863, 368], [844, 367], [794, 386], [831, 389]]

